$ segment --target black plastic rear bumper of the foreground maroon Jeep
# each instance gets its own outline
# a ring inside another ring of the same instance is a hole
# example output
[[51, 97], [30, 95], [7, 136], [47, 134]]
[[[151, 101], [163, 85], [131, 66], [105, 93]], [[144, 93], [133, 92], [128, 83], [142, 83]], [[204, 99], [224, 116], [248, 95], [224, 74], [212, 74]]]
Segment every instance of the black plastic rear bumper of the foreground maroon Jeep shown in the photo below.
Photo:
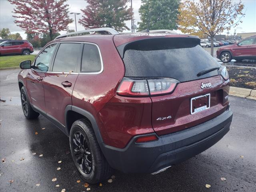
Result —
[[156, 141], [136, 143], [139, 136], [135, 136], [126, 148], [105, 145], [102, 146], [102, 152], [112, 168], [124, 173], [157, 172], [213, 146], [229, 131], [232, 116], [233, 113], [226, 110], [197, 126], [158, 136]]

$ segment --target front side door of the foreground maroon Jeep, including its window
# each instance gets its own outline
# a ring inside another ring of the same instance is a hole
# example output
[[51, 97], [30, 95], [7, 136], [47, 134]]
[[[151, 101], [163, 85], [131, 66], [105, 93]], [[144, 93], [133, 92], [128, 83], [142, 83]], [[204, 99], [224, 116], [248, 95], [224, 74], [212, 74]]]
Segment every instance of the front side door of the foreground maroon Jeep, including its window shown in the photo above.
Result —
[[57, 44], [51, 44], [38, 54], [33, 68], [28, 71], [26, 77], [26, 90], [30, 98], [30, 103], [43, 112], [46, 111], [43, 80], [50, 67], [56, 46]]

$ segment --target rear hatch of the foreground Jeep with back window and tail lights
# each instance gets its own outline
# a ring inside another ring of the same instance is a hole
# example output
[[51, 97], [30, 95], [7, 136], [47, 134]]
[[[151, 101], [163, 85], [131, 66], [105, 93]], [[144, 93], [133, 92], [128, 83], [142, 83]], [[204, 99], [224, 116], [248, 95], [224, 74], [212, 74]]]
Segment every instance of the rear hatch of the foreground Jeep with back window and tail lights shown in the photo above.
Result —
[[117, 93], [150, 96], [157, 134], [195, 126], [226, 109], [228, 81], [219, 75], [221, 65], [203, 50], [200, 39], [146, 38], [117, 49], [125, 65]]

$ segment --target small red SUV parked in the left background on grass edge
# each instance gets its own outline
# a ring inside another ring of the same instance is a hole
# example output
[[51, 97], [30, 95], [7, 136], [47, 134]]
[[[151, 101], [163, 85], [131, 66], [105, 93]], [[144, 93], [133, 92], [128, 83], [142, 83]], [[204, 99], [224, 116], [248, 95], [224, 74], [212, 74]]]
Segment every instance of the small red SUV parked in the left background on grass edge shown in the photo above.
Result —
[[30, 55], [32, 52], [33, 46], [28, 41], [6, 40], [0, 43], [0, 55]]

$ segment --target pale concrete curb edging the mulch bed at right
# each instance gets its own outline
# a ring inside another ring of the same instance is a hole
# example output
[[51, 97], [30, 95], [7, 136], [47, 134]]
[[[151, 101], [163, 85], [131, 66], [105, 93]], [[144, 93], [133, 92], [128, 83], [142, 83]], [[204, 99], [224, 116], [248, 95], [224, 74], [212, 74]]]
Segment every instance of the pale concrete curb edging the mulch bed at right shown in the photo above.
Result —
[[229, 95], [256, 100], [256, 90], [230, 86]]

